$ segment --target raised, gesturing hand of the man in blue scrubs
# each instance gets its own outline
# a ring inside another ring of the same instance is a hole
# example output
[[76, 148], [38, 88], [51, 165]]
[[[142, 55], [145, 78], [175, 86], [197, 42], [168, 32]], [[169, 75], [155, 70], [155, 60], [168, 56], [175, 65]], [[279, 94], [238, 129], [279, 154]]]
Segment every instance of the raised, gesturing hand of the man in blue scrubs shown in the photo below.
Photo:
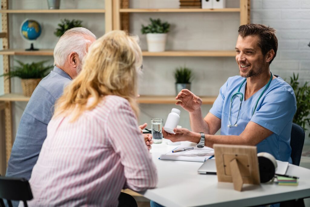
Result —
[[175, 97], [178, 102], [176, 105], [182, 106], [188, 112], [193, 112], [201, 107], [202, 100], [188, 89], [183, 89], [179, 94]]

